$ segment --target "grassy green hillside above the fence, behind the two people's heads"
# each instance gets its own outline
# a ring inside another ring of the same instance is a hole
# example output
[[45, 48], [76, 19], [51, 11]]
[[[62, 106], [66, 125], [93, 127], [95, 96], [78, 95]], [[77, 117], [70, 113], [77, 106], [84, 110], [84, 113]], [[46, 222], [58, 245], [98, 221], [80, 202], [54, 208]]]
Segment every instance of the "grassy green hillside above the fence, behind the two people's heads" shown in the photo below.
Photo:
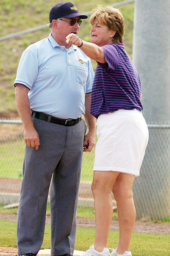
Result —
[[[48, 15], [52, 6], [60, 1], [54, 0], [0, 0], [0, 37], [49, 23]], [[103, 7], [122, 2], [122, 0], [74, 0], [80, 13], [90, 12], [96, 5]], [[132, 57], [134, 2], [117, 7], [125, 19], [125, 49]], [[89, 20], [83, 20], [79, 37], [90, 41]], [[28, 45], [48, 37], [50, 29], [39, 30], [0, 41], [0, 117], [17, 118], [14, 98], [14, 79], [20, 56]], [[96, 63], [92, 61], [94, 70]]]

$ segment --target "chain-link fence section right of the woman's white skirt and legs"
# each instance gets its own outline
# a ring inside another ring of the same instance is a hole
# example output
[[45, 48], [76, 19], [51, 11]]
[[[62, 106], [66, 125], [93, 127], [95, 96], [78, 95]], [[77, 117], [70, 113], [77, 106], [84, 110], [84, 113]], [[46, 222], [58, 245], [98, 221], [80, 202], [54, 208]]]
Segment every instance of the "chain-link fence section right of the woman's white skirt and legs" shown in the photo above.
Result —
[[170, 217], [170, 125], [148, 128], [149, 142], [133, 185], [136, 218], [166, 220]]

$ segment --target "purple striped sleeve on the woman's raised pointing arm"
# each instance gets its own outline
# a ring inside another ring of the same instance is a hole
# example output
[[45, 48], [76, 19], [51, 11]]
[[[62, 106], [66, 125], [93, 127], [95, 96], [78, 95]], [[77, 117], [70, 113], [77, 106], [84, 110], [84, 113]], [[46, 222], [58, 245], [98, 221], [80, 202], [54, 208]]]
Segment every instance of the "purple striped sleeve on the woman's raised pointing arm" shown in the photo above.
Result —
[[99, 63], [99, 66], [106, 71], [116, 70], [119, 65], [119, 54], [112, 44], [107, 44], [101, 47], [104, 52], [106, 64]]

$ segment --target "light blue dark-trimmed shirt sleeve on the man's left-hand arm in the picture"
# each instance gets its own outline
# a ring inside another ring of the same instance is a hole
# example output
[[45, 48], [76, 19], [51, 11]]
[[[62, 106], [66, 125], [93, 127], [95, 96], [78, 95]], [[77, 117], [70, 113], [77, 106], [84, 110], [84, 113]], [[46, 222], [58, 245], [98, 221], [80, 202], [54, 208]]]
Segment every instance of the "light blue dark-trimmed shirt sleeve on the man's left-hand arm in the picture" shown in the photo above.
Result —
[[17, 69], [15, 84], [23, 84], [30, 90], [38, 74], [38, 57], [35, 52], [27, 48], [21, 55]]

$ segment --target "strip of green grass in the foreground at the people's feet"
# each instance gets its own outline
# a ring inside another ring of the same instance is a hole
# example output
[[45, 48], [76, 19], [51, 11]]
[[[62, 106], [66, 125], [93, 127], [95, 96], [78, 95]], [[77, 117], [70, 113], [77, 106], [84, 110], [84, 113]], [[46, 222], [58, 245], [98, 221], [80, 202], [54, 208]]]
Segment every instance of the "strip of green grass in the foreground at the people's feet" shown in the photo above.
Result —
[[[17, 247], [16, 221], [0, 221], [0, 246]], [[85, 251], [94, 243], [94, 228], [77, 228], [75, 250]], [[51, 228], [45, 225], [44, 241], [41, 249], [50, 249]], [[119, 233], [109, 232], [108, 247], [116, 247]], [[170, 256], [170, 235], [133, 233], [130, 250], [133, 256]]]

